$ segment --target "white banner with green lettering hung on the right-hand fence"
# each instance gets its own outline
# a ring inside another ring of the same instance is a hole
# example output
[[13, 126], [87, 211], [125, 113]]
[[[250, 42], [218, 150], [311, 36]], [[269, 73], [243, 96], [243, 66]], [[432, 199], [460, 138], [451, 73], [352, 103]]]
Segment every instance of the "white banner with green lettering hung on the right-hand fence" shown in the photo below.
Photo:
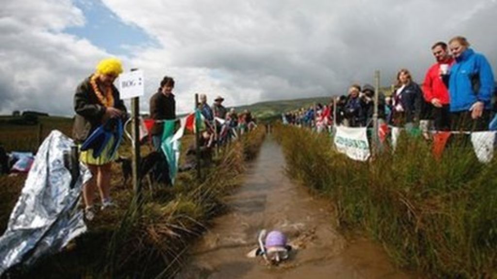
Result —
[[336, 150], [357, 161], [366, 161], [371, 154], [366, 128], [336, 127], [333, 140]]

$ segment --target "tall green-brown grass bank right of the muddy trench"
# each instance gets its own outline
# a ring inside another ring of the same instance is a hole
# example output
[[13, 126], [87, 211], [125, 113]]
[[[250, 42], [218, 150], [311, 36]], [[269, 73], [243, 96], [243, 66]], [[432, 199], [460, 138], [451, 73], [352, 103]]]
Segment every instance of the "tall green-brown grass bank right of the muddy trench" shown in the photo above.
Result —
[[[394, 153], [355, 162], [328, 135], [279, 127], [288, 173], [326, 193], [343, 228], [367, 231], [400, 265], [437, 278], [497, 277], [497, 162], [454, 142], [440, 160], [405, 135]], [[470, 144], [471, 145], [471, 144]]]

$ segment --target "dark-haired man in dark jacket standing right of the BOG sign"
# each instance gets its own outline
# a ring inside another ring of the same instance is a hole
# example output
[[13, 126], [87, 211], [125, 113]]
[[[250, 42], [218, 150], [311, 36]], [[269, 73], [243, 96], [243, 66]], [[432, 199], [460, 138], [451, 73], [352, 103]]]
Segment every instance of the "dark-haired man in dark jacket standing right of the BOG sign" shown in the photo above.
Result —
[[[152, 127], [152, 142], [154, 149], [160, 151], [162, 145], [162, 134], [164, 131], [164, 120], [176, 119], [176, 101], [174, 100], [174, 79], [170, 76], [164, 76], [161, 80], [160, 87], [157, 92], [150, 98], [150, 118], [156, 120]], [[162, 157], [159, 164], [156, 164], [153, 174], [154, 179], [159, 182], [170, 184], [169, 168], [166, 156]]]

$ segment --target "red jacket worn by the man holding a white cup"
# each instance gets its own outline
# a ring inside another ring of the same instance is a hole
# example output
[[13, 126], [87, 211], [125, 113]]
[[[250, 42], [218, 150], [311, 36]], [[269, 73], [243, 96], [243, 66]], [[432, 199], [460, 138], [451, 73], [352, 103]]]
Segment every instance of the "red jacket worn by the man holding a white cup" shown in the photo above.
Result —
[[454, 59], [450, 58], [446, 63], [437, 62], [428, 69], [423, 82], [423, 95], [427, 102], [431, 103], [433, 98], [437, 98], [443, 105], [448, 105], [450, 103], [449, 91], [439, 75], [440, 64], [449, 64], [449, 66], [452, 66]]

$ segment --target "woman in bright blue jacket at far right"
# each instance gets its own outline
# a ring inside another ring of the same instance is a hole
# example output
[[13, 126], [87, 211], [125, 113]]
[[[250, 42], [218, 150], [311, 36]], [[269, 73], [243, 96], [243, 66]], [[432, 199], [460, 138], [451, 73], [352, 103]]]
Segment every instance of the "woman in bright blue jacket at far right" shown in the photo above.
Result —
[[456, 63], [449, 71], [451, 128], [456, 131], [488, 130], [494, 73], [482, 54], [469, 48], [466, 38], [449, 41]]

